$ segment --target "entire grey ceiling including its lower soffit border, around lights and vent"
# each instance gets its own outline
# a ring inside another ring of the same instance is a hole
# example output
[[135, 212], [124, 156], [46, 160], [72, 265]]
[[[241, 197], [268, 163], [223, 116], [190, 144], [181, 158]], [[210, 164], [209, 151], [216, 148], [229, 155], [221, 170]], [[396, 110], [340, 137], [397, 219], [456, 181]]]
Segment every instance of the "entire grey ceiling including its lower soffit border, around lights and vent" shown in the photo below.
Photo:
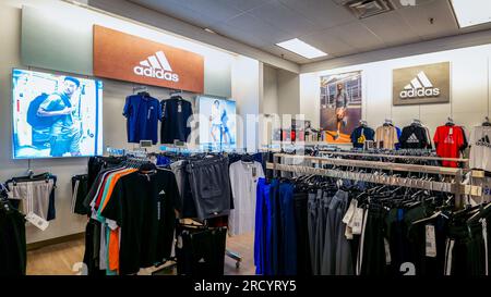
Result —
[[[73, 0], [64, 0], [75, 2]], [[347, 2], [390, 1], [359, 18]], [[489, 0], [472, 0], [489, 1]], [[294, 73], [491, 42], [491, 23], [459, 28], [451, 0], [77, 0]], [[203, 34], [204, 30], [207, 30]], [[306, 59], [276, 44], [328, 53]]]

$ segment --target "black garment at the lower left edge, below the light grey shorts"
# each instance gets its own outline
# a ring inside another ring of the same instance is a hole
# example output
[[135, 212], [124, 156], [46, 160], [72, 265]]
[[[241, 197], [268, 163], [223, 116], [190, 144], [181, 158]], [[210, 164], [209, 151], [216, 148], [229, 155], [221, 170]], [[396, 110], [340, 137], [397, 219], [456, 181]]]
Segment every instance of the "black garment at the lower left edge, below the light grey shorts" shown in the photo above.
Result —
[[0, 185], [0, 275], [25, 275], [26, 238], [24, 214], [8, 200], [7, 188]]

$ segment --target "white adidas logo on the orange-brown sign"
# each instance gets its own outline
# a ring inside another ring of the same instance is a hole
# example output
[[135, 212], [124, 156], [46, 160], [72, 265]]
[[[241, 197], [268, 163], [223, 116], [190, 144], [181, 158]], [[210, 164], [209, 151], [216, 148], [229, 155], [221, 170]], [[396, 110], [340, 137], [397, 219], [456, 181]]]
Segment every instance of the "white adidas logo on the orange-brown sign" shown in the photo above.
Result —
[[154, 55], [140, 62], [140, 65], [135, 66], [133, 72], [140, 76], [159, 78], [175, 83], [179, 82], [179, 75], [172, 73], [169, 61], [163, 51], [157, 51]]

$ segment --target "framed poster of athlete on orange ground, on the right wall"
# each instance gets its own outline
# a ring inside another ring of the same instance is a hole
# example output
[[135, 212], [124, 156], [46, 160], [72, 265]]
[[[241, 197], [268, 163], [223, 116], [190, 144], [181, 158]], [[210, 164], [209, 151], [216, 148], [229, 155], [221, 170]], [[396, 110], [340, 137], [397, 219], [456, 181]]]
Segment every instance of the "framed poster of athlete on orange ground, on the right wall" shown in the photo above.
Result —
[[361, 119], [361, 71], [321, 76], [321, 129], [324, 140], [349, 144]]

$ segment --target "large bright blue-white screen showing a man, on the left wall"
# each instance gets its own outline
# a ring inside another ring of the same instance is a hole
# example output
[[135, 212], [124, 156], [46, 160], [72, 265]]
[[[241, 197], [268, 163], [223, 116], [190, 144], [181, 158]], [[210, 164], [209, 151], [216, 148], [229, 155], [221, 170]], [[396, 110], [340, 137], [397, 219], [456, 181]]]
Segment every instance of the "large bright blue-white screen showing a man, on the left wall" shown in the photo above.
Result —
[[103, 82], [12, 71], [13, 158], [103, 154]]

